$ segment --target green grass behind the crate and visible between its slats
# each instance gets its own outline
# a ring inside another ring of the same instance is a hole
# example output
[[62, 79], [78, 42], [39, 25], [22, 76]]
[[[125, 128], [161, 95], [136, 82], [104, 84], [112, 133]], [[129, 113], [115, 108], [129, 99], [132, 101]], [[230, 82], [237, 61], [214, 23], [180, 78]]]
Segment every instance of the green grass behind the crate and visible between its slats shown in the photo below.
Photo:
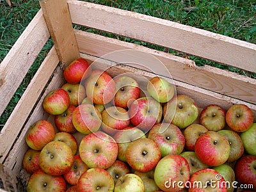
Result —
[[[132, 12], [143, 13], [162, 19], [172, 20], [181, 24], [186, 24], [200, 29], [206, 29], [214, 33], [230, 36], [239, 40], [244, 40], [256, 44], [256, 0], [89, 0], [92, 3], [104, 4], [113, 6], [116, 8], [130, 10]], [[4, 56], [10, 51], [13, 44], [19, 38], [20, 34], [29, 22], [35, 16], [36, 12], [40, 9], [39, 3], [36, 0], [22, 0], [13, 1], [15, 6], [12, 8], [8, 4], [0, 1], [0, 62], [3, 61]], [[138, 26], [140, 27], [140, 26]], [[154, 45], [140, 42], [137, 40], [131, 40], [129, 38], [122, 38], [120, 36], [109, 35], [108, 33], [102, 33], [92, 29], [86, 29], [93, 33], [100, 33], [115, 38], [121, 38], [127, 42], [134, 42], [136, 44], [145, 45], [152, 49], [163, 50], [163, 47], [157, 47]], [[35, 74], [37, 68], [40, 66], [45, 52], [49, 50], [52, 42], [49, 41], [44, 47], [44, 51], [40, 53], [35, 64], [29, 70], [29, 74], [22, 82], [20, 88], [13, 96], [12, 101], [4, 111], [0, 118], [0, 124], [3, 125], [10, 113], [12, 113], [13, 107], [19, 101], [22, 93], [26, 90], [26, 86], [31, 81], [31, 78]], [[179, 56], [187, 56], [182, 52], [172, 51], [172, 54]], [[245, 76], [256, 78], [255, 74], [244, 72], [237, 68], [220, 65], [212, 61], [203, 60], [194, 56], [189, 56], [191, 60], [196, 62], [196, 65], [212, 65], [223, 69], [237, 72]], [[1, 65], [1, 64], [0, 64]], [[1, 101], [0, 101], [1, 102]], [[2, 126], [3, 127], [3, 126]], [[0, 127], [1, 129], [1, 127]]]

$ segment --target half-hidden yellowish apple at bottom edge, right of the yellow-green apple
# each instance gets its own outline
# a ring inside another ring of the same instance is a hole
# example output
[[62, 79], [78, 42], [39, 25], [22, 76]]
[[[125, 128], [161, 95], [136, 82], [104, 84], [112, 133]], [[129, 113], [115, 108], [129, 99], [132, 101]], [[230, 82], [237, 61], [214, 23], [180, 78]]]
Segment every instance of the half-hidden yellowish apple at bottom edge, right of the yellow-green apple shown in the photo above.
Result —
[[143, 181], [145, 192], [158, 191], [160, 190], [154, 180], [155, 170], [150, 170], [149, 172], [134, 172]]

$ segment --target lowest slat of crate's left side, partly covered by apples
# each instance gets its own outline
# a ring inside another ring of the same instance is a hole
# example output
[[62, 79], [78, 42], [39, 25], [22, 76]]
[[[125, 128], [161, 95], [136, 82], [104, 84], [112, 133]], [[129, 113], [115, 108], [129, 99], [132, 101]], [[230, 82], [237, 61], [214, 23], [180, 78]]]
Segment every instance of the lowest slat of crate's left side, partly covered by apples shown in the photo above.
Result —
[[65, 83], [65, 79], [63, 77], [63, 70], [61, 68], [57, 68], [56, 72], [54, 72], [54, 76], [51, 79], [51, 83], [47, 86], [47, 89], [45, 90], [44, 94], [38, 101], [38, 104], [36, 105], [36, 108], [33, 109], [33, 113], [29, 117], [28, 122], [26, 122], [26, 125], [24, 125], [24, 129], [20, 132], [20, 136], [13, 143], [12, 150], [6, 156], [4, 165], [8, 168], [12, 169], [13, 172], [19, 173], [20, 169], [22, 168], [22, 157], [24, 156], [24, 153], [26, 150], [28, 150], [28, 145], [26, 144], [25, 135], [26, 132], [29, 129], [29, 126], [32, 125], [37, 120], [49, 120], [49, 122], [53, 124], [53, 116], [49, 115], [49, 113], [46, 113], [44, 111], [44, 108], [42, 108], [42, 102], [44, 100], [44, 97], [47, 93], [49, 93], [51, 90], [54, 90], [56, 88], [60, 88]]

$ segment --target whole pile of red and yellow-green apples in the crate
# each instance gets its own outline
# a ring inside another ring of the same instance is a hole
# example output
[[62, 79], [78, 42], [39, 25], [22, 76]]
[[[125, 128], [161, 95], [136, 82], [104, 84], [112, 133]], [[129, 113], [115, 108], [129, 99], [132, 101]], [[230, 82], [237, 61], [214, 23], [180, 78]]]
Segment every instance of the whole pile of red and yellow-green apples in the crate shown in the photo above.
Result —
[[244, 104], [200, 112], [166, 79], [150, 79], [143, 95], [131, 76], [81, 58], [63, 75], [43, 102], [54, 124], [38, 120], [26, 134], [28, 191], [256, 190], [256, 123]]

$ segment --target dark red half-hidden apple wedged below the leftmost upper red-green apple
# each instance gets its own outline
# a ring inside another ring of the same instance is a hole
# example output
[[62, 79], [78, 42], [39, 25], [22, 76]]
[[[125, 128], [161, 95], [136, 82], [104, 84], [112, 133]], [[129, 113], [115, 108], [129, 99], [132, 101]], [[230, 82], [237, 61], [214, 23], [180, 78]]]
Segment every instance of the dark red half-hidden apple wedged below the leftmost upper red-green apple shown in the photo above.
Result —
[[54, 116], [54, 124], [60, 131], [69, 133], [76, 132], [76, 128], [72, 122], [72, 114], [75, 109], [75, 106], [70, 105], [64, 113]]

